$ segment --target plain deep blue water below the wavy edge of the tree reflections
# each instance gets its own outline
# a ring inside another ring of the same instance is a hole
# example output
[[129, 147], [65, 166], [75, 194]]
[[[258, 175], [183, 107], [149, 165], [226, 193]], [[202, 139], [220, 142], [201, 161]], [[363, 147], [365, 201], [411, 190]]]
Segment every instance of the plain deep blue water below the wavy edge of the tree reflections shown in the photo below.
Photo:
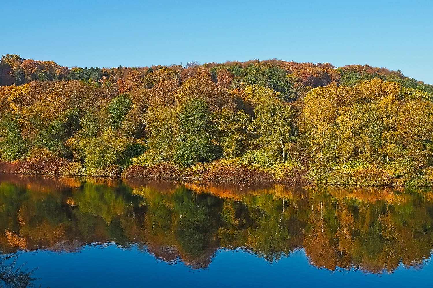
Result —
[[79, 252], [20, 252], [39, 266], [36, 276], [50, 287], [431, 287], [429, 260], [418, 267], [400, 266], [392, 273], [358, 269], [319, 269], [302, 249], [269, 263], [249, 250], [219, 249], [207, 268], [192, 269], [181, 260], [166, 263], [137, 247], [87, 245]]

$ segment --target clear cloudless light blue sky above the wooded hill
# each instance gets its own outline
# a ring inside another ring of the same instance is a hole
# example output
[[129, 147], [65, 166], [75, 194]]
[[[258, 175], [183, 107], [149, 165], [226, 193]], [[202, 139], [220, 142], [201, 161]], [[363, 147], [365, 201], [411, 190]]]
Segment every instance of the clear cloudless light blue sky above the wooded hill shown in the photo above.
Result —
[[0, 54], [117, 67], [282, 59], [433, 84], [433, 0], [0, 0]]

